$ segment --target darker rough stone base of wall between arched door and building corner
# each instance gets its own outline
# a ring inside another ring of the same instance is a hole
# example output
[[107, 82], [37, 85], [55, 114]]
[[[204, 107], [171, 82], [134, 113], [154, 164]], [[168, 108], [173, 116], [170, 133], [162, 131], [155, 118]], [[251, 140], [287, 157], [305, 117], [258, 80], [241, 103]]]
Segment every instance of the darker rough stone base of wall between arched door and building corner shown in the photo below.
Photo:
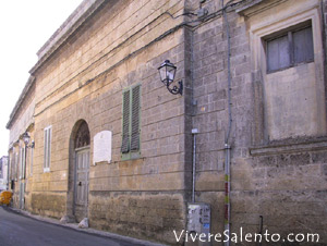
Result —
[[177, 244], [173, 230], [185, 227], [185, 204], [182, 194], [143, 192], [90, 192], [92, 227]]

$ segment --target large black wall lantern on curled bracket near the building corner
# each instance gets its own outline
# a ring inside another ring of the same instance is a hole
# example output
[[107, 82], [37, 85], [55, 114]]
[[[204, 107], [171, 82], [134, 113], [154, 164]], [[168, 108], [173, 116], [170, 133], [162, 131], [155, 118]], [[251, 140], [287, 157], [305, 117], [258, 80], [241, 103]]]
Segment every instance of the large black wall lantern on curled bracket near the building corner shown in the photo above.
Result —
[[179, 87], [173, 86], [170, 88], [171, 83], [174, 79], [177, 66], [172, 64], [169, 60], [166, 60], [159, 67], [158, 67], [159, 74], [160, 74], [160, 79], [164, 83], [164, 85], [167, 87], [169, 93], [173, 95], [182, 95], [183, 94], [183, 82], [179, 82]]

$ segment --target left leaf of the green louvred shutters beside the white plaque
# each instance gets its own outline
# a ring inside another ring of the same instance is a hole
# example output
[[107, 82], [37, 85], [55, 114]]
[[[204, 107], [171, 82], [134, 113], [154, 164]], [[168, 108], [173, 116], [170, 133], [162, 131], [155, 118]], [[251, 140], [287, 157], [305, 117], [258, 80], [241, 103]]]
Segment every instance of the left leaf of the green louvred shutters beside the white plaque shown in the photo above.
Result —
[[122, 144], [121, 152], [130, 151], [130, 90], [123, 93]]

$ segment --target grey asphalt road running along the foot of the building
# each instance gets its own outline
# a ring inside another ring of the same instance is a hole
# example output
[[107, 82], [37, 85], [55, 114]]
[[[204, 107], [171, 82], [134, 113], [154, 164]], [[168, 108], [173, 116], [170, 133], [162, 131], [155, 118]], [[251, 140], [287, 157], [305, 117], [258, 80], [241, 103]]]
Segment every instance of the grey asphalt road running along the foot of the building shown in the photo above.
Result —
[[0, 246], [129, 246], [130, 242], [83, 233], [0, 207]]

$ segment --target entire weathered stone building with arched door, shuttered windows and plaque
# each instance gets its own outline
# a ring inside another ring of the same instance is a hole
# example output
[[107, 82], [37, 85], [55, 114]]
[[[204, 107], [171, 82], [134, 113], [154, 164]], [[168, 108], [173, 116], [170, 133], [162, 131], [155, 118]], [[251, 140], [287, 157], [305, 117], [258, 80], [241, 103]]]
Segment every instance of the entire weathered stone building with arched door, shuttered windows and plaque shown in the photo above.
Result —
[[326, 245], [327, 1], [222, 2], [83, 1], [7, 125], [14, 206], [182, 244], [194, 195], [214, 234]]

